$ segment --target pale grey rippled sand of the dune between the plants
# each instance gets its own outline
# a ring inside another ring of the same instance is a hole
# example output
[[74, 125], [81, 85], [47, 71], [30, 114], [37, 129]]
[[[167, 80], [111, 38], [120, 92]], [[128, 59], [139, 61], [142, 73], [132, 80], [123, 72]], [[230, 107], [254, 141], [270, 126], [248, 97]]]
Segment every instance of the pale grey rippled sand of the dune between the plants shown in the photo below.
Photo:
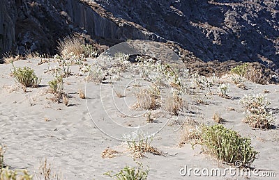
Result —
[[[109, 170], [117, 172], [125, 165], [135, 165], [126, 146], [116, 138], [135, 131], [137, 126], [144, 126], [144, 131], [150, 133], [160, 130], [152, 145], [167, 153], [166, 156], [147, 154], [146, 158], [137, 159], [145, 166], [149, 166], [149, 179], [186, 179], [187, 177], [179, 174], [184, 165], [200, 169], [228, 167], [201, 154], [199, 147], [196, 149], [192, 149], [190, 145], [178, 147], [181, 132], [177, 130], [179, 126], [169, 125], [173, 122], [170, 116], [155, 118], [156, 121], [151, 124], [146, 123], [146, 117], [134, 117], [143, 113], [126, 106], [132, 105], [135, 99], [131, 95], [128, 95], [126, 101], [116, 97], [110, 83], [96, 85], [90, 82], [85, 87], [84, 76], [69, 76], [64, 79], [65, 92], [71, 96], [69, 106], [52, 102], [47, 99], [52, 97], [47, 93], [49, 88], [47, 82], [52, 80], [52, 75], [44, 73], [48, 65], [47, 63], [38, 65], [39, 61], [31, 59], [15, 62], [16, 67], [33, 67], [36, 74], [43, 79], [40, 88], [27, 88], [28, 92], [25, 93], [10, 76], [12, 65], [0, 65], [0, 140], [7, 147], [5, 154], [7, 165], [27, 168], [38, 174], [40, 161], [47, 158], [52, 164], [52, 170], [56, 172], [61, 170], [66, 179], [105, 179], [107, 177], [103, 175], [104, 172]], [[71, 69], [74, 74], [78, 73], [77, 67], [73, 66]], [[123, 80], [121, 85], [125, 84]], [[77, 93], [80, 88], [86, 90], [86, 99], [80, 99]], [[216, 88], [214, 85], [213, 92], [216, 92]], [[189, 98], [190, 111], [186, 115], [199, 122], [214, 124], [213, 113], [220, 113], [227, 120], [226, 127], [238, 131], [241, 136], [252, 138], [253, 147], [259, 151], [259, 156], [252, 166], [262, 170], [260, 172], [266, 170], [279, 172], [277, 126], [276, 129], [268, 131], [251, 129], [248, 124], [241, 122], [243, 109], [238, 104], [239, 98], [244, 94], [268, 89], [270, 93], [267, 97], [271, 99], [270, 107], [273, 108], [276, 117], [274, 124], [279, 124], [279, 86], [248, 83], [248, 90], [236, 88], [234, 84], [230, 84], [230, 88], [232, 92], [229, 92], [229, 96], [234, 97], [233, 100], [213, 95], [208, 99], [209, 105], [196, 105], [194, 100]], [[229, 111], [229, 107], [236, 111]], [[122, 154], [115, 158], [102, 158], [101, 153], [107, 147], [116, 149]], [[195, 176], [190, 178], [204, 179]], [[262, 179], [262, 177], [254, 178]], [[218, 179], [243, 179], [243, 177], [227, 175]]]

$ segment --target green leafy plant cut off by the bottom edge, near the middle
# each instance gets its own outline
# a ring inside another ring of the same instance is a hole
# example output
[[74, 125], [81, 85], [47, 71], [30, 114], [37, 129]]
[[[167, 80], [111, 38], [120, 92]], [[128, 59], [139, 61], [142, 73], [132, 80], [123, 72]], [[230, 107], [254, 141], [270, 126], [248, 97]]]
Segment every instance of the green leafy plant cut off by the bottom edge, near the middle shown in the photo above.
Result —
[[106, 172], [104, 175], [112, 177], [115, 180], [144, 180], [148, 177], [149, 169], [144, 169], [142, 163], [137, 162], [137, 167], [126, 166], [116, 174], [112, 175], [111, 173], [112, 171]]

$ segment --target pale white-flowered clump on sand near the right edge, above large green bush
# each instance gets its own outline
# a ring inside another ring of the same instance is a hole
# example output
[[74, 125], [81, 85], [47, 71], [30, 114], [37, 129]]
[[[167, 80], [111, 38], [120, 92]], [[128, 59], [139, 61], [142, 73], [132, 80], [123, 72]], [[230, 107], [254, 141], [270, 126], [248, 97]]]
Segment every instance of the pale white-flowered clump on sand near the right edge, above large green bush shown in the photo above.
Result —
[[246, 117], [243, 122], [250, 124], [254, 128], [269, 129], [274, 120], [273, 113], [268, 111], [267, 106], [270, 100], [263, 94], [245, 95], [240, 103], [246, 109]]

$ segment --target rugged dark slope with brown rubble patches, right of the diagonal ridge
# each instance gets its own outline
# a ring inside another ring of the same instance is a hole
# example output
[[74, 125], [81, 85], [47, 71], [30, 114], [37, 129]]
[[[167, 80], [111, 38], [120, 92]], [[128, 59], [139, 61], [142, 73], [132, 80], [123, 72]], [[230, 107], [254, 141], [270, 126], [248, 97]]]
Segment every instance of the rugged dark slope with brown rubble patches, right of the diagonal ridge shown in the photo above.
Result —
[[116, 17], [178, 42], [198, 58], [279, 65], [279, 1], [97, 0]]

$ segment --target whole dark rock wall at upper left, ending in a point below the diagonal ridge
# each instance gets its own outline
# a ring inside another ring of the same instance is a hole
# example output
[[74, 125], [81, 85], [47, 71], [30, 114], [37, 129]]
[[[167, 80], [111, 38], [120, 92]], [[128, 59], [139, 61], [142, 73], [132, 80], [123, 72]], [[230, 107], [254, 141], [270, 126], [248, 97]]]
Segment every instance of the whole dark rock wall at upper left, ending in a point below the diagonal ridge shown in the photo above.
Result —
[[127, 39], [163, 41], [133, 24], [102, 17], [78, 0], [10, 0], [1, 1], [0, 8], [1, 54], [6, 51], [24, 54], [27, 50], [55, 54], [57, 40], [75, 32], [89, 34], [110, 45]]

